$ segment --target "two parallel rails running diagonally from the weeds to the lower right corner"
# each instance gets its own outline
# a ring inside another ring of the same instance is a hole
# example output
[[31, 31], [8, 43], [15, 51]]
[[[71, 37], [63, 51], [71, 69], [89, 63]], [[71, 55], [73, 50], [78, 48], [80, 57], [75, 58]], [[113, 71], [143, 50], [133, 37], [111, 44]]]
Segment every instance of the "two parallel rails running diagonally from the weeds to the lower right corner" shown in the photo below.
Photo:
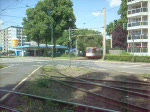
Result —
[[[56, 72], [57, 73], [60, 73], [58, 70], [56, 70]], [[93, 82], [90, 82], [90, 81], [88, 81], [88, 80], [84, 80], [84, 79], [80, 79], [80, 78], [76, 78], [76, 77], [70, 77], [70, 76], [68, 76], [68, 75], [66, 75], [66, 74], [62, 74], [62, 73], [60, 73], [63, 77], [65, 77], [65, 78], [71, 78], [71, 79], [73, 79], [73, 80], [78, 80], [78, 81], [80, 81], [80, 82], [87, 82], [88, 84], [95, 84], [95, 83], [93, 83]], [[54, 80], [54, 81], [56, 81], [56, 82], [58, 82], [58, 83], [61, 83], [61, 84], [64, 84], [64, 85], [67, 85], [67, 86], [70, 86], [70, 85], [68, 85], [67, 83], [64, 83], [63, 81], [58, 81], [58, 80], [55, 80], [54, 78], [52, 78], [51, 77], [51, 80]], [[136, 82], [132, 82], [132, 83], [134, 83], [134, 84], [137, 84]], [[123, 90], [123, 89], [120, 89], [120, 88], [114, 88], [114, 87], [110, 87], [110, 86], [105, 86], [105, 85], [103, 85], [103, 84], [96, 84], [96, 85], [100, 85], [100, 86], [103, 86], [103, 87], [106, 87], [106, 88], [110, 88], [110, 89], [116, 89], [116, 90], [121, 90], [121, 91], [126, 91], [126, 90]], [[143, 84], [143, 85], [145, 85], [145, 83]], [[146, 84], [147, 85], [147, 84]], [[78, 89], [78, 88], [77, 88]], [[83, 89], [81, 89], [81, 91], [82, 91]], [[83, 91], [85, 91], [85, 90], [83, 90]], [[93, 93], [91, 93], [91, 92], [89, 92], [89, 91], [86, 91], [86, 92], [88, 92], [88, 93], [90, 93], [90, 94], [93, 94]], [[126, 91], [127, 93], [127, 95], [128, 95], [128, 93], [130, 92], [130, 93], [134, 93], [134, 94], [138, 94], [138, 95], [140, 95], [140, 96], [144, 96], [145, 98], [149, 98], [150, 96], [149, 95], [147, 95], [147, 94], [141, 94], [141, 93], [137, 93], [137, 92], [132, 92], [132, 91]], [[94, 93], [94, 95], [96, 95], [96, 96], [98, 96], [98, 97], [101, 97], [102, 99], [105, 99], [105, 100], [108, 100], [108, 101], [110, 101], [110, 102], [113, 102], [113, 103], [115, 103], [115, 104], [117, 104], [117, 105], [120, 105], [120, 106], [123, 106], [123, 107], [125, 107], [125, 108], [127, 108], [127, 109], [131, 109], [132, 111], [136, 111], [136, 112], [148, 112], [148, 111], [150, 111], [150, 109], [149, 109], [149, 107], [143, 107], [143, 106], [137, 106], [137, 105], [134, 105], [134, 104], [130, 104], [130, 103], [127, 103], [127, 102], [124, 102], [124, 101], [119, 101], [119, 100], [116, 100], [116, 99], [112, 99], [112, 98], [110, 98], [110, 97], [108, 97], [108, 96], [104, 96], [104, 95], [100, 95], [100, 94], [95, 94]], [[113, 104], [112, 103], [112, 104]]]

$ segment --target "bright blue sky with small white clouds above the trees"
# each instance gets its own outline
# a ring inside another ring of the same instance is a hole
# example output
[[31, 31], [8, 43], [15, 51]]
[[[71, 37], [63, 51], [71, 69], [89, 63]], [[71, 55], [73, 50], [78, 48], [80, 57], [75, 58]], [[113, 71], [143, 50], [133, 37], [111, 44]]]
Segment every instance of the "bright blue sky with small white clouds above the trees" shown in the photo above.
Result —
[[[35, 7], [40, 0], [0, 0], [0, 28], [22, 26], [26, 9]], [[106, 8], [106, 23], [119, 19], [121, 0], [72, 0], [77, 28], [96, 29], [104, 26], [103, 9]], [[2, 24], [3, 23], [3, 24]]]

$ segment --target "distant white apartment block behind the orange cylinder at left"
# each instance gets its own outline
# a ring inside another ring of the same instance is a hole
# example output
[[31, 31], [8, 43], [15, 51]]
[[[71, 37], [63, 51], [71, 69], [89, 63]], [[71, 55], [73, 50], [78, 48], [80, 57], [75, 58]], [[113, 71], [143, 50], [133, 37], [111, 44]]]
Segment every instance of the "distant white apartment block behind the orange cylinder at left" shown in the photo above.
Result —
[[7, 52], [12, 48], [12, 39], [18, 38], [18, 46], [23, 46], [26, 36], [23, 35], [23, 27], [10, 26], [0, 31], [0, 45], [2, 52]]

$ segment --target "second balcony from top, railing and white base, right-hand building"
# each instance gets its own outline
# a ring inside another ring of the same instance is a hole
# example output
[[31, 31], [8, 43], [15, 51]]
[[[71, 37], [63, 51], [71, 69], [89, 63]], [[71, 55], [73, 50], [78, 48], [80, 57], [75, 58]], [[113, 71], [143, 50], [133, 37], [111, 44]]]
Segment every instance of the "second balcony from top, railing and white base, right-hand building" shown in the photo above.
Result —
[[128, 23], [127, 29], [132, 30], [132, 29], [142, 29], [142, 28], [145, 28], [145, 29], [148, 28], [148, 21], [139, 21], [139, 22]]

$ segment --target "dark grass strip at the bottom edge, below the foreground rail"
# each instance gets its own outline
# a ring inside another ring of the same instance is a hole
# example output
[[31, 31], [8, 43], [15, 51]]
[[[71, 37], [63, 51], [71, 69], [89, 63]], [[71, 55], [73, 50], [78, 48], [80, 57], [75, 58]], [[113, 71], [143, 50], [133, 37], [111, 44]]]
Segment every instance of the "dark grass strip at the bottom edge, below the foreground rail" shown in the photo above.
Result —
[[22, 97], [24, 100], [24, 105], [20, 105], [18, 108], [23, 112], [74, 112], [74, 107], [63, 106], [52, 101], [40, 101], [31, 99], [29, 97]]

